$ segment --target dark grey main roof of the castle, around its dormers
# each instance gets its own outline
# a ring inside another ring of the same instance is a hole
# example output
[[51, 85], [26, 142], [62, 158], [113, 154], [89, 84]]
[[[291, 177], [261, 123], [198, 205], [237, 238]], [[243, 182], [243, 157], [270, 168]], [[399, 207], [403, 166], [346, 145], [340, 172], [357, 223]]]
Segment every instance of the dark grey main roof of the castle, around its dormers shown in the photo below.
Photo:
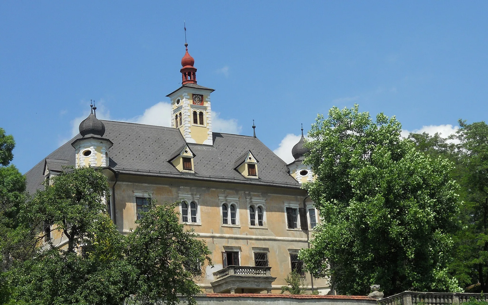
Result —
[[[104, 138], [114, 143], [109, 150], [109, 167], [121, 173], [300, 188], [288, 175], [286, 163], [254, 137], [214, 132], [213, 146], [187, 143], [195, 154], [195, 173], [181, 173], [169, 162], [175, 150], [186, 144], [178, 129], [127, 122], [103, 123]], [[71, 143], [79, 138], [77, 135], [46, 158], [66, 160], [74, 165], [75, 149]], [[245, 178], [234, 169], [236, 158], [249, 150], [260, 161], [259, 179]], [[25, 174], [30, 193], [44, 181], [44, 164], [45, 159]]]

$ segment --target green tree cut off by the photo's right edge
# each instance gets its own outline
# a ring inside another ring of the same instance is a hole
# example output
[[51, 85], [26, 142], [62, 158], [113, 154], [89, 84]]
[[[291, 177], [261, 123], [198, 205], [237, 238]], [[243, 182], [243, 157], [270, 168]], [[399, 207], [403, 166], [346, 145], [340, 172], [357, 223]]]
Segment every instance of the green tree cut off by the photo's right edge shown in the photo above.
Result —
[[455, 235], [455, 260], [450, 269], [464, 286], [488, 292], [488, 125], [462, 120], [459, 125], [451, 138], [460, 142], [456, 174], [464, 201], [463, 228]]

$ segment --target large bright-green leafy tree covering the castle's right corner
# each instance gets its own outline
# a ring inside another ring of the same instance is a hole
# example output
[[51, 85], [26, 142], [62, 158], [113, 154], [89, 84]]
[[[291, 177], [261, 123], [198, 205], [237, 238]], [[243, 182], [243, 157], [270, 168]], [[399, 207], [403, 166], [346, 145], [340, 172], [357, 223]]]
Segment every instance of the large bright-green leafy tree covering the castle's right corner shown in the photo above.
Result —
[[317, 179], [304, 187], [322, 223], [300, 257], [341, 293], [458, 288], [446, 268], [459, 204], [452, 163], [426, 157], [400, 132], [395, 117], [373, 121], [358, 105], [331, 108], [309, 132], [304, 162]]

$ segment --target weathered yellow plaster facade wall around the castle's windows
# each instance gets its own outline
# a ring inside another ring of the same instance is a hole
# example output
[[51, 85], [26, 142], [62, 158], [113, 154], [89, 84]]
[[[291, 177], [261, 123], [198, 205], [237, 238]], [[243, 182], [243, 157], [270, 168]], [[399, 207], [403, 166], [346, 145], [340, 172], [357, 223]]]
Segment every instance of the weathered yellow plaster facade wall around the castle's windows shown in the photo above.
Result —
[[[211, 234], [202, 237], [212, 251], [213, 269], [206, 267], [206, 277], [199, 284], [205, 289], [211, 288], [212, 272], [222, 268], [224, 245], [241, 247], [241, 265], [254, 265], [252, 247], [269, 248], [268, 260], [271, 275], [277, 277], [273, 293], [279, 293], [278, 286], [285, 285], [285, 277], [291, 271], [288, 249], [307, 247], [307, 233], [301, 229], [287, 229], [284, 202], [296, 202], [303, 205], [306, 193], [302, 189], [288, 189], [270, 186], [256, 186], [233, 183], [200, 182], [189, 180], [170, 180], [121, 175], [116, 184], [116, 224], [123, 232], [128, 232], [136, 225], [136, 204], [134, 190], [152, 192], [158, 203], [175, 202], [179, 192], [197, 193], [200, 195], [199, 209], [201, 224], [187, 224], [196, 233]], [[239, 225], [224, 225], [222, 222], [221, 202], [219, 195], [239, 196]], [[265, 224], [263, 227], [249, 227], [249, 216], [246, 197], [265, 199]], [[180, 208], [177, 208], [180, 212]], [[239, 236], [236, 238], [235, 236]], [[256, 237], [267, 237], [258, 239]], [[285, 238], [285, 239], [284, 239]], [[290, 240], [291, 239], [291, 240]], [[305, 277], [310, 285], [310, 275]], [[324, 279], [314, 280], [315, 287], [326, 287]]]

